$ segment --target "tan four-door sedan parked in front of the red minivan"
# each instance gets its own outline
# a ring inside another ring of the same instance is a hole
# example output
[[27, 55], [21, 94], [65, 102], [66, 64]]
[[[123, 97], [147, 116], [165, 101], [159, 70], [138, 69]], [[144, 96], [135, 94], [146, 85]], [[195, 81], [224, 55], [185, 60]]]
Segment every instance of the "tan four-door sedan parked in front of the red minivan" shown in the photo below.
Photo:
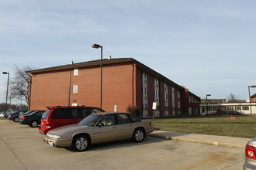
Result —
[[85, 151], [90, 145], [132, 138], [143, 141], [147, 133], [154, 131], [150, 120], [140, 120], [126, 113], [97, 113], [85, 117], [78, 124], [71, 124], [48, 131], [43, 141], [52, 147], [71, 146]]

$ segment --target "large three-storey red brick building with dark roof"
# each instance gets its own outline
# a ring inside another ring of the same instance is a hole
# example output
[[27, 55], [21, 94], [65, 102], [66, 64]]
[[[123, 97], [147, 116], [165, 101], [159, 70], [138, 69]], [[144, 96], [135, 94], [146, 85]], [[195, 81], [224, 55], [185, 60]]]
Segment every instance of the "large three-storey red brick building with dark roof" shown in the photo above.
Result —
[[[100, 60], [28, 73], [29, 110], [56, 105], [100, 107]], [[134, 106], [139, 109], [140, 117], [152, 117], [153, 102], [157, 103], [156, 116], [199, 114], [199, 97], [136, 59], [102, 60], [103, 110], [126, 112], [128, 106]]]

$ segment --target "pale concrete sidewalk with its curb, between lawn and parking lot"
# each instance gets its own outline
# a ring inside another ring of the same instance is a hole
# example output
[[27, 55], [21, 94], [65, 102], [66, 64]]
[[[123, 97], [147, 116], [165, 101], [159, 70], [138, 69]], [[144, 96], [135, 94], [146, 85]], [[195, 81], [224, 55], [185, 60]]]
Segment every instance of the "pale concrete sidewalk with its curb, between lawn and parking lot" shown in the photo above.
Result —
[[209, 134], [187, 134], [173, 131], [153, 131], [147, 134], [155, 138], [164, 138], [175, 141], [189, 141], [208, 145], [218, 145], [233, 148], [245, 148], [250, 138], [236, 138], [227, 136], [217, 136]]

